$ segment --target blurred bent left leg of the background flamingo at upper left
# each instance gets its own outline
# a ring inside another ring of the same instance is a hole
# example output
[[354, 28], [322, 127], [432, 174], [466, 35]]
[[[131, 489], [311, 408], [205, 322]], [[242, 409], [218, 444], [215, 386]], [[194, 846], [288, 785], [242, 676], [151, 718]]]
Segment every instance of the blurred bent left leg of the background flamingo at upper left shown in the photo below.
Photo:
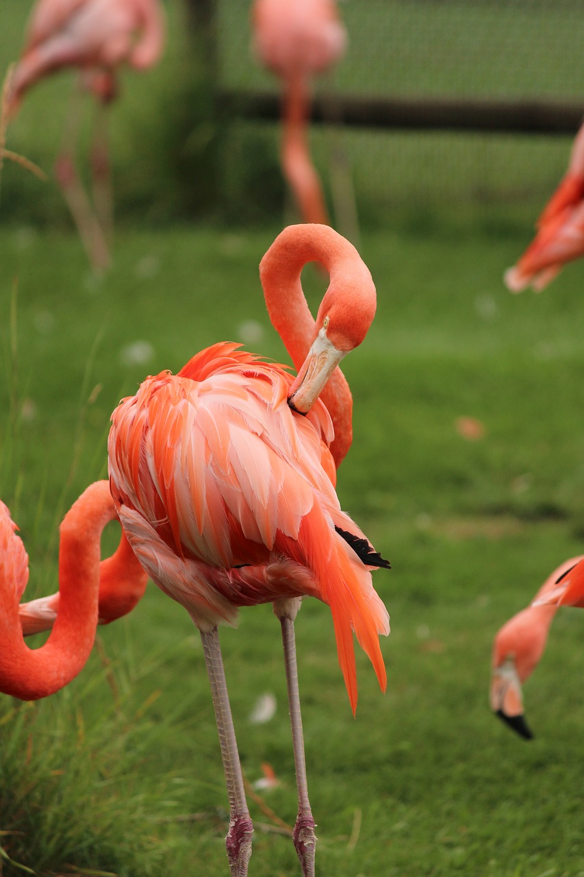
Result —
[[89, 262], [96, 271], [100, 272], [110, 265], [110, 251], [75, 166], [75, 145], [81, 124], [78, 104], [79, 95], [75, 95], [65, 125], [61, 151], [55, 161], [55, 176], [82, 239]]

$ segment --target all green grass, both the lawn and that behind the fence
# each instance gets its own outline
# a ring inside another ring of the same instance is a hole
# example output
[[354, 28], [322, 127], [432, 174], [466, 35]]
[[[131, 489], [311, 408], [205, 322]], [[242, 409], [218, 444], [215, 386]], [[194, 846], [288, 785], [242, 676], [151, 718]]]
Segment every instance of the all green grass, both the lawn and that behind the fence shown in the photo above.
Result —
[[[577, 4], [419, 2], [415, 21], [409, 7], [371, 0], [366, 17], [359, 4], [345, 4], [351, 50], [340, 88], [580, 93]], [[196, 164], [213, 132], [204, 119], [176, 122], [190, 86], [180, 6], [169, 2], [167, 11], [164, 63], [128, 75], [113, 111], [123, 221], [109, 275], [89, 275], [53, 183], [4, 167], [0, 496], [30, 555], [29, 597], [56, 588], [57, 524], [105, 475], [110, 412], [121, 396], [219, 339], [286, 357], [258, 278], [280, 225], [176, 219], [185, 216], [177, 181], [192, 189], [191, 201], [199, 194], [176, 168]], [[0, 68], [14, 58], [25, 12], [19, 0], [2, 4]], [[249, 61], [246, 23], [244, 7], [221, 4], [224, 79], [266, 85]], [[535, 48], [542, 35], [548, 63]], [[367, 74], [363, 58], [375, 61]], [[9, 132], [8, 146], [46, 171], [69, 86], [66, 77], [39, 86]], [[385, 696], [358, 656], [353, 721], [329, 611], [306, 602], [296, 625], [317, 873], [582, 877], [580, 614], [559, 613], [526, 687], [534, 741], [497, 723], [487, 697], [495, 631], [553, 567], [581, 552], [584, 538], [576, 418], [584, 267], [566, 267], [541, 296], [509, 296], [501, 282], [565, 167], [566, 139], [352, 132], [343, 141], [379, 303], [365, 344], [345, 360], [355, 439], [338, 493], [392, 560], [391, 573], [375, 575], [392, 633], [382, 644]], [[226, 142], [229, 215], [241, 219], [258, 190], [270, 188], [275, 130], [241, 125]], [[324, 166], [335, 148], [330, 132], [313, 142]], [[261, 162], [270, 155], [266, 175]], [[250, 156], [257, 160], [246, 177]], [[304, 281], [314, 304], [321, 281], [310, 269]], [[459, 417], [479, 419], [484, 436], [463, 439]], [[115, 528], [106, 531], [105, 553], [116, 538]], [[222, 642], [246, 777], [258, 779], [268, 762], [281, 780], [250, 802], [258, 825], [250, 871], [294, 874], [288, 838], [261, 827], [274, 823], [268, 808], [286, 824], [296, 815], [271, 608], [243, 611], [239, 630], [222, 631]], [[264, 692], [277, 711], [268, 724], [252, 724]], [[3, 877], [23, 868], [40, 877], [226, 873], [226, 800], [201, 646], [187, 614], [153, 586], [130, 617], [100, 630], [68, 688], [35, 704], [0, 699], [0, 743]]]

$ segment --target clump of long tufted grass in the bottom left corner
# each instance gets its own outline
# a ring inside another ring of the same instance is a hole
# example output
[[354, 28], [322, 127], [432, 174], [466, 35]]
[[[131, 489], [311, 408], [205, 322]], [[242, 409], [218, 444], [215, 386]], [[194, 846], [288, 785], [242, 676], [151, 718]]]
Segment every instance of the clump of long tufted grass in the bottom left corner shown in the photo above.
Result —
[[[147, 830], [160, 800], [176, 808], [181, 785], [149, 776], [148, 752], [180, 724], [177, 709], [150, 717], [159, 693], [136, 702], [132, 680], [102, 667], [45, 701], [0, 702], [0, 854], [27, 873], [161, 873], [164, 850]], [[156, 674], [156, 667], [149, 663]], [[90, 706], [96, 698], [101, 706]], [[4, 871], [4, 874], [6, 871]]]

